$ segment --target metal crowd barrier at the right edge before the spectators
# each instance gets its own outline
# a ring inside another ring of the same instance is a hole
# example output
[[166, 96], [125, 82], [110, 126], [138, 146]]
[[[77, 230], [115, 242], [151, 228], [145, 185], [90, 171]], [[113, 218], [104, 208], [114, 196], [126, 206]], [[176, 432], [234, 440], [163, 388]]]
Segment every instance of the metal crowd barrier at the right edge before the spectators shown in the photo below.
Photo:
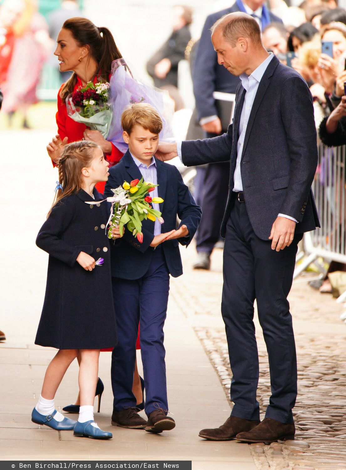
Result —
[[[320, 217], [321, 228], [307, 232], [303, 237], [303, 248], [297, 254], [293, 279], [310, 264], [325, 275], [318, 258], [346, 264], [346, 147], [318, 149], [318, 166], [312, 189]], [[305, 257], [304, 257], [305, 256]], [[298, 263], [300, 261], [300, 263]], [[338, 297], [346, 301], [346, 292]]]

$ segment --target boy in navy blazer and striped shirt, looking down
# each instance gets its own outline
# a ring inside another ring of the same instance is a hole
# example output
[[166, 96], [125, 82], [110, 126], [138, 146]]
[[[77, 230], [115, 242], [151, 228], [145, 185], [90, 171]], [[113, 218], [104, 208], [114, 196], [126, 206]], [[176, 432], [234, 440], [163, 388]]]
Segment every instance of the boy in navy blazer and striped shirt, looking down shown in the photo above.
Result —
[[[149, 104], [136, 103], [122, 115], [123, 138], [129, 145], [121, 161], [110, 168], [105, 196], [124, 181], [158, 184], [150, 193], [164, 202], [152, 204], [164, 222], [142, 222], [143, 242], [124, 229], [123, 239], [111, 251], [111, 270], [118, 344], [112, 353], [114, 406], [112, 424], [159, 433], [175, 427], [167, 416], [167, 387], [163, 325], [166, 318], [169, 274], [183, 274], [179, 246], [188, 246], [200, 223], [201, 209], [183, 183], [177, 168], [154, 158], [162, 121]], [[177, 227], [177, 215], [181, 220]], [[140, 345], [146, 390], [146, 422], [138, 415], [132, 393], [136, 339], [140, 321]]]

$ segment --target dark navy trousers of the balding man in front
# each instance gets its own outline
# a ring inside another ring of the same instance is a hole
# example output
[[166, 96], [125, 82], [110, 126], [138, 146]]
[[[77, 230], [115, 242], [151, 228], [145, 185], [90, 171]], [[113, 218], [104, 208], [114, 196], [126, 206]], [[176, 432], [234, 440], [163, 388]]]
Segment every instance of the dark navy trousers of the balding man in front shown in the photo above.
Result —
[[239, 203], [235, 196], [233, 199], [223, 249], [221, 306], [233, 373], [231, 415], [260, 419], [256, 399], [259, 360], [253, 321], [256, 299], [269, 356], [271, 397], [266, 418], [292, 423], [297, 396], [297, 359], [287, 296], [302, 234], [295, 235], [284, 250], [272, 250], [271, 241], [263, 241], [254, 233], [246, 203]]

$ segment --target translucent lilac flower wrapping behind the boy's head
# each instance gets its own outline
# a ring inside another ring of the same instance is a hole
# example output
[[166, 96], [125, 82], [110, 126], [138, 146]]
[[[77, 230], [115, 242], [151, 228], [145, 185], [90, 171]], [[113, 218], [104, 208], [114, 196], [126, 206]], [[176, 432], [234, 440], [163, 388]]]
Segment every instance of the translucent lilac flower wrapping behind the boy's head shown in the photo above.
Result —
[[113, 120], [107, 140], [112, 142], [117, 149], [123, 153], [128, 149], [127, 143], [123, 140], [120, 118], [126, 106], [132, 103], [146, 102], [154, 106], [163, 122], [163, 128], [159, 137], [160, 141], [172, 141], [174, 139], [171, 128], [174, 106], [167, 90], [159, 90], [133, 78], [124, 59], [113, 61], [109, 84]]

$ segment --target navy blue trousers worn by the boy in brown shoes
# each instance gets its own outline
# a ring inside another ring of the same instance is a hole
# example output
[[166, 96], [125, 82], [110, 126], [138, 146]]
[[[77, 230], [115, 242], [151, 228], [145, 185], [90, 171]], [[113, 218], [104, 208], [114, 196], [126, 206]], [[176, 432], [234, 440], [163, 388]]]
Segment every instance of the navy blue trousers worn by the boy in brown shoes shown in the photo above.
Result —
[[[149, 248], [150, 250], [151, 248]], [[166, 319], [169, 271], [160, 245], [140, 279], [112, 277], [118, 344], [112, 352], [111, 379], [114, 409], [135, 407], [132, 393], [136, 340], [140, 321], [140, 349], [146, 391], [145, 412], [168, 410], [163, 325]]]

